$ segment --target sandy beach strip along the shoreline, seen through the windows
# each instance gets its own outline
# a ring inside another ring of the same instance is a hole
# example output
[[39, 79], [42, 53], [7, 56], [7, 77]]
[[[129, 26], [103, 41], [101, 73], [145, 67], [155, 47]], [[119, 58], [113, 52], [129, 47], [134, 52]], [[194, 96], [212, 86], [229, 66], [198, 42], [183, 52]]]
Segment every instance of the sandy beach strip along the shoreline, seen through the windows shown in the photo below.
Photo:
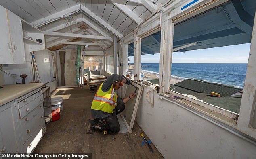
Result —
[[[128, 69], [134, 70], [134, 65], [128, 65]], [[141, 71], [143, 71], [143, 73], [144, 73], [144, 79], [143, 80], [159, 79], [159, 73], [157, 73], [157, 72], [143, 70], [143, 68], [141, 68]], [[171, 77], [170, 84], [176, 84], [180, 81], [183, 81], [183, 79]]]

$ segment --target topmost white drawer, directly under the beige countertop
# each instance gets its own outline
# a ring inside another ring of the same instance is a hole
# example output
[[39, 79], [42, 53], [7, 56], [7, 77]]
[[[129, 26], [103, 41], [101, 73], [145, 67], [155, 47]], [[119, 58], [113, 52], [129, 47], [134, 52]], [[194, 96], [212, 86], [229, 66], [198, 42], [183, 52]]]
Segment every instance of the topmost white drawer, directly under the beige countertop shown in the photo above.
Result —
[[[18, 108], [22, 108], [23, 106], [25, 106], [26, 104], [28, 104], [29, 102], [31, 102], [32, 100], [34, 100], [35, 98], [40, 96], [41, 94], [42, 94], [41, 89], [38, 89], [38, 90], [30, 92], [29, 94], [26, 94], [25, 96], [18, 98], [17, 99]], [[42, 97], [42, 99], [43, 99], [43, 97]]]

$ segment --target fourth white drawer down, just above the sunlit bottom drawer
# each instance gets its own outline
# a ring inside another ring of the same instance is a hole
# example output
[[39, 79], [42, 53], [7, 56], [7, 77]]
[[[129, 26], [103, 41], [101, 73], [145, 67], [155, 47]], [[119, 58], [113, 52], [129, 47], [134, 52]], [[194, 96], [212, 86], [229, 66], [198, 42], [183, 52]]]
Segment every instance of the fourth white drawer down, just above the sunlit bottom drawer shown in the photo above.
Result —
[[35, 132], [38, 126], [42, 124], [44, 124], [44, 112], [39, 112], [31, 121], [29, 121], [29, 123], [25, 124], [25, 126], [21, 128], [23, 144]]

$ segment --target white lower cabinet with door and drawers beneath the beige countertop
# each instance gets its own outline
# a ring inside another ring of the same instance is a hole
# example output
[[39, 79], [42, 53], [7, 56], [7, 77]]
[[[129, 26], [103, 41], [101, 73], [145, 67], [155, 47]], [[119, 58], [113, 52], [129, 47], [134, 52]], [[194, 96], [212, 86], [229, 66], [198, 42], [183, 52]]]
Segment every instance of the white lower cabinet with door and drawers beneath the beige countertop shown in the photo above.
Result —
[[21, 95], [0, 106], [0, 159], [2, 153], [32, 153], [46, 133], [41, 88]]

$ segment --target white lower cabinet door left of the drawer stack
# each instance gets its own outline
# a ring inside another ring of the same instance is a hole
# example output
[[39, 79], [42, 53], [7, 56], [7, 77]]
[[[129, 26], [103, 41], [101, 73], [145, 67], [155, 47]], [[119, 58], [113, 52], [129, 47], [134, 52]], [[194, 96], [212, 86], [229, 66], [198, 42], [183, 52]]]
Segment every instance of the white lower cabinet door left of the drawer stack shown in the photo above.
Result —
[[19, 152], [17, 115], [14, 102], [0, 106], [0, 149], [4, 152]]

